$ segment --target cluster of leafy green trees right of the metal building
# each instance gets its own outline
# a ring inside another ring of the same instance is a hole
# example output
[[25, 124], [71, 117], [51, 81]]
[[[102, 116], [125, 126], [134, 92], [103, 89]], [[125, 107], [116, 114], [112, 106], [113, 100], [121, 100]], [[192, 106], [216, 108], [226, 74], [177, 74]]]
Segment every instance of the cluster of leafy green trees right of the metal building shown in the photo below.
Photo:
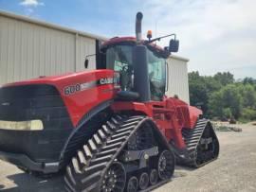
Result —
[[229, 72], [213, 77], [189, 73], [190, 99], [208, 117], [256, 120], [256, 79], [234, 80]]

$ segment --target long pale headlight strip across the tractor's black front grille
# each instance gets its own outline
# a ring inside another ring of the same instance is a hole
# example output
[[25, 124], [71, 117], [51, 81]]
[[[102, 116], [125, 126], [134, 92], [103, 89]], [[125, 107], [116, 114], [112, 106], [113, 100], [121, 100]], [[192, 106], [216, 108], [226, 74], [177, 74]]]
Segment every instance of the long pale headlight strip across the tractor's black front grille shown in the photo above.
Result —
[[0, 120], [0, 130], [41, 131], [43, 129], [44, 129], [44, 125], [41, 120], [30, 120], [30, 121]]

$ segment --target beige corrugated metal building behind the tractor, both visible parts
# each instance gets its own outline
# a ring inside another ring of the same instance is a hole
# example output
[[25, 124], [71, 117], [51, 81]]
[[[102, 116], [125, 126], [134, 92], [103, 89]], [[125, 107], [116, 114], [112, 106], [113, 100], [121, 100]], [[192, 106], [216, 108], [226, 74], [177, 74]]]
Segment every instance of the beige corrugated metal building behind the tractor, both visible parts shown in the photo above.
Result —
[[[84, 70], [86, 55], [106, 38], [0, 11], [0, 85]], [[95, 58], [90, 58], [90, 69]], [[187, 59], [169, 59], [168, 96], [189, 102]]]

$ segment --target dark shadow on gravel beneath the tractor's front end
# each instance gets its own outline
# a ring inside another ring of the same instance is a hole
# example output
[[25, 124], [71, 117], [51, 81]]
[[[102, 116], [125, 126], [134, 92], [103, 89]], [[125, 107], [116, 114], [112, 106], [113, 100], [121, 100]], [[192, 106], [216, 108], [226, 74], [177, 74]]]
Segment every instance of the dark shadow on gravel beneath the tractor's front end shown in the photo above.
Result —
[[[62, 176], [54, 176], [49, 179], [37, 178], [27, 173], [19, 173], [8, 176], [17, 186], [9, 189], [3, 189], [4, 192], [21, 192], [21, 191], [37, 191], [37, 192], [63, 192], [64, 182]], [[1, 185], [0, 185], [1, 189]]]

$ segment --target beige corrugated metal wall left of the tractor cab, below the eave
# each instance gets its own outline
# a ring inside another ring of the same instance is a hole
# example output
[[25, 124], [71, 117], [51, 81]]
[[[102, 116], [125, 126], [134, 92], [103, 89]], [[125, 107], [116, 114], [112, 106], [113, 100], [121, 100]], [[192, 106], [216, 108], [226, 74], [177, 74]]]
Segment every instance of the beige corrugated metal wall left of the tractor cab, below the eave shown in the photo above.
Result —
[[84, 58], [95, 53], [95, 42], [0, 14], [0, 84], [84, 70]]

